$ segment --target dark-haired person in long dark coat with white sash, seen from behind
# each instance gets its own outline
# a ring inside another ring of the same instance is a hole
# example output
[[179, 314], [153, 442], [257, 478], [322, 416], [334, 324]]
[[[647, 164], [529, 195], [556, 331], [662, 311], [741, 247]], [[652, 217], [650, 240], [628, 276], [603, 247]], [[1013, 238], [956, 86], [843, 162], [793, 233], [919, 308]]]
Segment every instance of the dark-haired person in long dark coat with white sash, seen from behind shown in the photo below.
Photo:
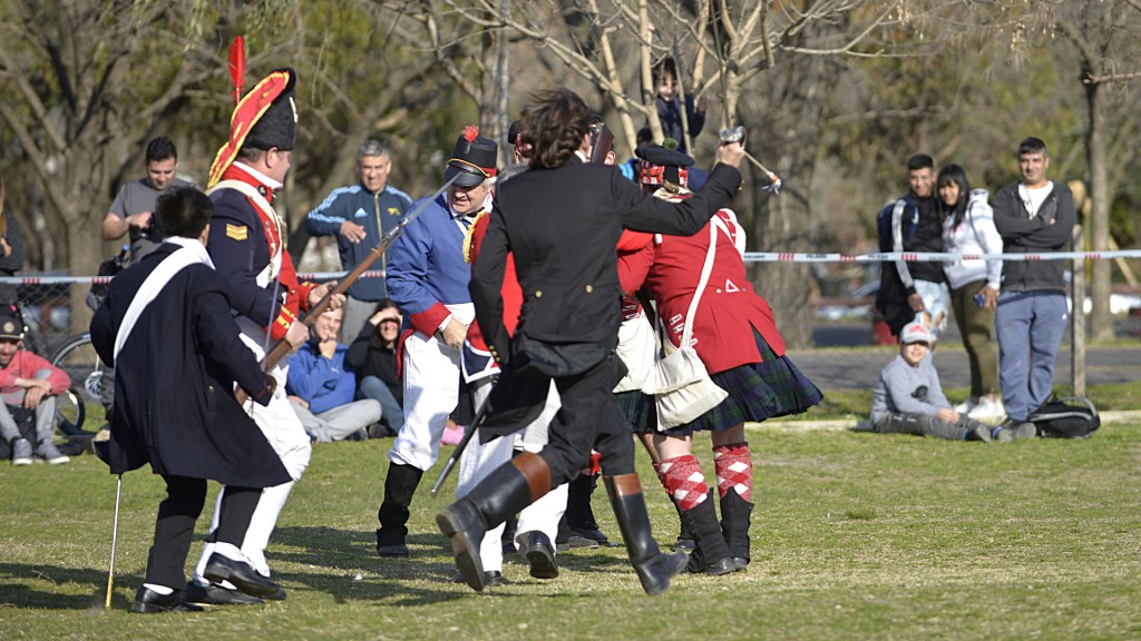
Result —
[[208, 576], [252, 597], [276, 592], [277, 584], [254, 571], [238, 547], [261, 488], [290, 478], [234, 398], [236, 381], [265, 405], [275, 383], [243, 349], [225, 284], [207, 254], [210, 198], [177, 188], [155, 210], [168, 238], [115, 277], [91, 319], [91, 342], [115, 367], [111, 471], [149, 463], [167, 481], [132, 612], [200, 609], [181, 586], [207, 479], [227, 486]]

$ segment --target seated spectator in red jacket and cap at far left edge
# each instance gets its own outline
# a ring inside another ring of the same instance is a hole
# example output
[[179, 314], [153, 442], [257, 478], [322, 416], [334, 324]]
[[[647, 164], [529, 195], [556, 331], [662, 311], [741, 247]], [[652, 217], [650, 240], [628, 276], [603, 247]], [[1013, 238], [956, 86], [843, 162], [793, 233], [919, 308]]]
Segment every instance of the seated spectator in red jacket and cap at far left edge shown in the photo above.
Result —
[[[52, 443], [56, 397], [71, 386], [67, 373], [22, 349], [24, 320], [15, 306], [0, 307], [0, 433], [11, 448], [13, 465], [32, 456], [52, 465], [71, 461]], [[31, 437], [31, 443], [29, 441]]]

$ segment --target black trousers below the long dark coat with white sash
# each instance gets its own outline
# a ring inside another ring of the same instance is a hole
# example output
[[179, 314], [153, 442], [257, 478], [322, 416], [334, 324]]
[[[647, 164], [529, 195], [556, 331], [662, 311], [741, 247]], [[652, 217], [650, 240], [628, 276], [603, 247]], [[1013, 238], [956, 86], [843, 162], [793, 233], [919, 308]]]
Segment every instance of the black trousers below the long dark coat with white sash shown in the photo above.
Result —
[[[167, 497], [159, 504], [145, 583], [181, 590], [186, 585], [186, 555], [191, 551], [194, 521], [207, 500], [207, 481], [172, 474], [162, 478], [167, 481]], [[218, 512], [217, 541], [242, 546], [260, 496], [261, 488], [226, 487]]]

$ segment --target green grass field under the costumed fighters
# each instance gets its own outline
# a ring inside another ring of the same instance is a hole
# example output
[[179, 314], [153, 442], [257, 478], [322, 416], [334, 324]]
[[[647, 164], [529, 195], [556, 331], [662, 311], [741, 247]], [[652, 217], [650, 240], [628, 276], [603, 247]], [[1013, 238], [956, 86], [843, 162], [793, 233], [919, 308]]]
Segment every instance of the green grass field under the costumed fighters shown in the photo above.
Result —
[[[599, 549], [560, 554], [550, 582], [509, 560], [512, 583], [477, 594], [452, 582], [432, 518], [445, 501], [428, 496], [435, 471], [413, 503], [411, 559], [381, 560], [373, 529], [390, 441], [340, 443], [316, 447], [270, 546], [286, 601], [161, 616], [127, 611], [161, 479], [124, 476], [108, 612], [115, 478], [89, 455], [0, 463], [0, 630], [116, 640], [1141, 639], [1141, 425], [987, 446], [784, 423], [751, 429], [750, 441], [758, 505], [746, 573], [680, 576], [649, 598], [622, 549]], [[712, 473], [707, 439], [696, 452]], [[655, 530], [672, 541], [677, 517], [639, 456]], [[601, 488], [594, 506], [617, 537]]]

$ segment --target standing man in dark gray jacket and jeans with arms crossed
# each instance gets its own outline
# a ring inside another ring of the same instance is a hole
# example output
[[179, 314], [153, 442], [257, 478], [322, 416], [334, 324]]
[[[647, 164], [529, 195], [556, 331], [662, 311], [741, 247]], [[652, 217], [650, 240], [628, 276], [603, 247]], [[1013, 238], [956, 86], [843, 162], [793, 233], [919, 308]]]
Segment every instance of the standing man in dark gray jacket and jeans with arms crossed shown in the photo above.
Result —
[[[1074, 194], [1046, 179], [1050, 154], [1038, 138], [1018, 146], [1022, 180], [995, 195], [995, 227], [1006, 253], [1061, 251], [1074, 230]], [[998, 382], [1008, 422], [1018, 424], [1050, 397], [1054, 359], [1066, 331], [1065, 263], [1061, 260], [1006, 260], [995, 311]]]

